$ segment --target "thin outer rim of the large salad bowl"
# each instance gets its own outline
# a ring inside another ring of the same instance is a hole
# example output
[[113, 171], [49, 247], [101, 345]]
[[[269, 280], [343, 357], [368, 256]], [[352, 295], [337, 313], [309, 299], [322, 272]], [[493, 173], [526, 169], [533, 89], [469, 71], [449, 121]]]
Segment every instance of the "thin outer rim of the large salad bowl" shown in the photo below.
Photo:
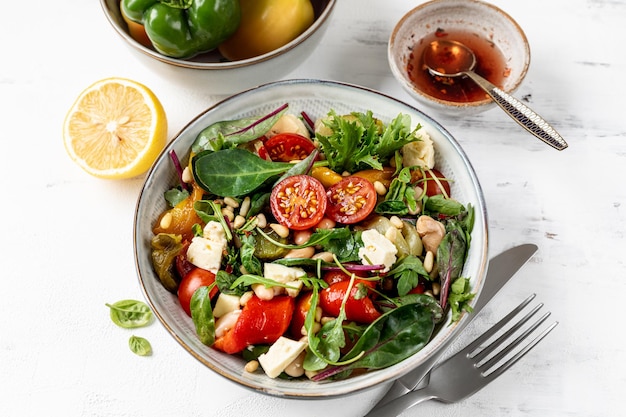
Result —
[[[374, 94], [376, 96], [378, 96], [379, 98], [392, 102], [395, 105], [404, 107], [407, 109], [407, 111], [411, 111], [414, 114], [419, 115], [424, 121], [427, 121], [428, 123], [431, 123], [443, 136], [445, 136], [445, 139], [447, 141], [449, 141], [449, 144], [454, 148], [455, 152], [458, 153], [459, 157], [461, 158], [463, 165], [465, 166], [465, 168], [467, 169], [467, 175], [469, 175], [469, 177], [471, 178], [471, 182], [473, 184], [474, 187], [474, 193], [475, 196], [477, 198], [476, 201], [476, 217], [478, 218], [479, 216], [483, 219], [482, 222], [482, 228], [480, 230], [480, 233], [483, 237], [483, 241], [484, 244], [482, 245], [482, 247], [477, 248], [477, 250], [479, 251], [478, 253], [478, 258], [479, 258], [479, 264], [477, 265], [476, 268], [476, 276], [475, 276], [475, 281], [473, 281], [473, 285], [474, 288], [476, 289], [476, 296], [473, 298], [473, 300], [471, 301], [471, 305], [474, 305], [474, 303], [476, 302], [476, 300], [479, 298], [480, 296], [480, 290], [482, 289], [483, 285], [484, 285], [484, 281], [485, 281], [485, 277], [486, 277], [486, 272], [487, 272], [487, 266], [488, 266], [488, 247], [489, 247], [489, 232], [488, 232], [488, 221], [487, 221], [487, 210], [486, 210], [486, 204], [485, 204], [485, 199], [484, 199], [484, 195], [482, 192], [482, 188], [480, 186], [480, 183], [478, 181], [478, 177], [476, 175], [476, 172], [473, 168], [473, 166], [471, 165], [467, 155], [465, 154], [464, 150], [461, 148], [460, 144], [456, 141], [456, 139], [454, 137], [452, 137], [452, 135], [443, 127], [441, 126], [437, 121], [435, 121], [434, 119], [432, 119], [431, 117], [429, 117], [428, 115], [426, 115], [425, 113], [423, 113], [422, 111], [418, 110], [417, 108], [415, 108], [414, 106], [411, 106], [410, 104], [407, 104], [399, 99], [396, 99], [392, 96], [389, 96], [385, 93], [370, 89], [368, 87], [362, 87], [362, 86], [358, 86], [358, 85], [354, 85], [354, 84], [350, 84], [350, 83], [345, 83], [345, 82], [337, 82], [337, 81], [328, 81], [328, 80], [319, 80], [319, 79], [289, 79], [289, 80], [281, 80], [281, 81], [276, 81], [276, 82], [270, 82], [270, 83], [266, 83], [257, 87], [253, 87], [250, 88], [248, 90], [244, 90], [240, 93], [234, 94], [230, 97], [227, 97], [219, 102], [217, 102], [216, 104], [210, 106], [209, 108], [207, 108], [206, 110], [202, 111], [201, 113], [199, 113], [198, 115], [196, 115], [195, 117], [193, 117], [188, 124], [186, 124], [175, 136], [174, 138], [169, 142], [169, 144], [162, 150], [161, 154], [159, 155], [159, 157], [157, 158], [157, 162], [161, 161], [163, 158], [167, 157], [167, 154], [170, 153], [170, 151], [172, 149], [174, 149], [177, 140], [181, 137], [182, 134], [184, 134], [191, 126], [193, 126], [198, 119], [205, 117], [207, 115], [210, 115], [211, 113], [217, 111], [217, 109], [220, 108], [220, 106], [223, 106], [229, 102], [232, 101], [236, 101], [241, 97], [246, 97], [246, 96], [250, 96], [250, 95], [256, 95], [256, 94], [261, 94], [264, 91], [272, 91], [273, 89], [276, 88], [281, 88], [283, 86], [306, 86], [306, 87], [313, 87], [315, 88], [316, 86], [319, 86], [319, 88], [325, 88], [325, 87], [331, 87], [331, 88], [339, 88], [339, 89], [347, 89], [347, 90], [353, 90], [353, 91], [358, 91], [361, 93], [365, 93], [365, 94]], [[141, 205], [142, 205], [142, 199], [145, 193], [148, 192], [148, 188], [150, 186], [151, 183], [151, 179], [153, 177], [153, 175], [155, 175], [155, 171], [158, 168], [158, 163], [155, 162], [155, 164], [153, 164], [153, 166], [150, 168], [150, 170], [148, 171], [146, 177], [145, 177], [145, 182], [142, 185], [140, 194], [137, 198], [137, 203], [136, 203], [136, 207], [135, 207], [135, 215], [134, 215], [134, 220], [133, 220], [133, 246], [134, 246], [134, 257], [135, 257], [135, 269], [137, 272], [137, 278], [139, 281], [139, 285], [141, 287], [141, 290], [144, 294], [144, 298], [147, 300], [148, 304], [150, 305], [151, 309], [153, 310], [155, 316], [157, 317], [158, 321], [161, 323], [161, 325], [163, 325], [165, 327], [165, 329], [168, 331], [168, 333], [174, 337], [174, 339], [183, 347], [184, 350], [186, 350], [189, 354], [191, 354], [194, 358], [196, 358], [200, 363], [202, 363], [204, 366], [206, 366], [207, 368], [211, 369], [212, 371], [214, 371], [215, 373], [217, 373], [218, 375], [221, 375], [222, 377], [230, 380], [231, 382], [234, 382], [236, 384], [241, 385], [242, 387], [245, 387], [247, 389], [250, 389], [254, 392], [257, 393], [262, 393], [262, 394], [266, 394], [266, 395], [270, 395], [270, 396], [275, 396], [275, 397], [281, 397], [281, 398], [295, 398], [295, 399], [321, 399], [321, 398], [325, 398], [325, 399], [330, 399], [333, 397], [338, 397], [338, 396], [343, 396], [343, 395], [350, 395], [350, 394], [356, 394], [358, 392], [362, 392], [365, 390], [369, 390], [369, 389], [373, 389], [375, 388], [378, 384], [384, 384], [384, 383], [391, 383], [393, 382], [393, 380], [401, 377], [402, 375], [410, 372], [414, 367], [419, 366], [429, 355], [432, 355], [434, 353], [436, 353], [438, 350], [440, 350], [442, 348], [442, 344], [445, 343], [445, 341], [449, 338], [449, 337], [453, 337], [455, 334], [457, 334], [458, 332], [460, 332], [462, 330], [462, 328], [467, 324], [467, 322], [471, 319], [469, 317], [469, 314], [464, 313], [461, 317], [461, 319], [449, 326], [442, 326], [439, 330], [439, 333], [444, 332], [446, 337], [441, 337], [438, 338], [437, 340], [433, 340], [431, 339], [423, 348], [422, 350], [420, 350], [420, 352], [416, 353], [416, 355], [420, 355], [420, 356], [424, 356], [424, 358], [422, 359], [422, 361], [420, 361], [417, 364], [412, 364], [410, 361], [410, 358], [407, 358], [403, 361], [401, 361], [400, 363], [396, 364], [396, 365], [392, 365], [388, 368], [385, 369], [381, 369], [381, 370], [377, 370], [377, 371], [370, 371], [367, 372], [365, 375], [365, 377], [363, 377], [363, 375], [360, 376], [355, 376], [355, 377], [351, 377], [348, 378], [346, 380], [342, 380], [342, 381], [334, 381], [334, 382], [329, 382], [329, 383], [320, 383], [318, 385], [319, 389], [313, 391], [311, 390], [311, 392], [300, 392], [297, 390], [288, 390], [288, 389], [281, 389], [281, 390], [277, 390], [275, 388], [268, 388], [268, 387], [264, 387], [264, 386], [259, 386], [256, 385], [250, 381], [246, 381], [243, 378], [236, 378], [233, 375], [229, 374], [228, 372], [219, 369], [218, 367], [216, 367], [214, 364], [212, 364], [209, 360], [207, 360], [207, 358], [204, 358], [200, 355], [199, 352], [196, 352], [193, 349], [193, 346], [189, 346], [188, 343], [183, 340], [183, 338], [178, 335], [172, 325], [170, 325], [164, 315], [159, 311], [159, 309], [156, 306], [155, 301], [153, 300], [152, 295], [149, 293], [147, 286], [144, 283], [144, 278], [142, 276], [142, 270], [140, 267], [140, 262], [139, 262], [139, 253], [138, 253], [138, 245], [140, 244], [140, 239], [141, 236], [139, 235], [138, 229], [139, 229], [139, 222], [140, 222], [140, 218], [139, 218], [139, 213], [141, 210]], [[480, 223], [480, 222], [479, 222]], [[475, 225], [474, 230], [476, 230], [476, 227], [478, 225]], [[163, 291], [165, 291], [163, 289]], [[438, 333], [438, 335], [439, 335]], [[354, 380], [356, 381], [356, 379], [358, 378], [358, 383], [350, 383], [349, 381]]]

